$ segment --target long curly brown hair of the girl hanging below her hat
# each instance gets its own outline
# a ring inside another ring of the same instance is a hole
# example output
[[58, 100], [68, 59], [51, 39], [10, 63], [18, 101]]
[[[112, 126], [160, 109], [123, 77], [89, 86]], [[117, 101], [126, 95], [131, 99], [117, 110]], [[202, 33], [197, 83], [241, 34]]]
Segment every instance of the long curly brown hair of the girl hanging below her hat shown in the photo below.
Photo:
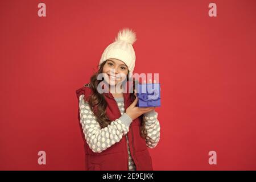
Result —
[[[100, 84], [100, 82], [102, 80], [97, 80], [97, 77], [100, 73], [102, 73], [103, 67], [106, 64], [105, 60], [104, 62], [102, 62], [99, 65], [99, 69], [96, 73], [94, 73], [94, 75], [92, 75], [92, 77], [90, 77], [90, 83], [86, 84], [88, 86], [90, 86], [90, 88], [92, 89], [92, 94], [90, 95], [88, 104], [90, 106], [90, 109], [93, 111], [95, 117], [97, 118], [98, 123], [101, 126], [101, 129], [108, 126], [110, 124], [110, 119], [108, 118], [108, 116], [106, 115], [106, 100], [104, 98], [103, 94], [98, 93], [97, 91], [97, 87], [98, 84]], [[128, 75], [129, 75], [129, 71], [128, 71]], [[129, 77], [127, 75], [127, 81], [129, 80]], [[104, 79], [104, 78], [102, 78]], [[133, 93], [130, 93], [130, 98], [132, 101], [135, 100], [135, 95], [134, 95], [134, 88], [135, 88], [135, 81], [133, 80]], [[93, 107], [96, 106], [97, 110], [94, 110]], [[142, 138], [146, 138], [147, 137], [147, 130], [145, 127], [145, 123], [146, 123], [146, 119], [144, 117], [144, 114], [142, 114], [141, 116], [141, 137]]]

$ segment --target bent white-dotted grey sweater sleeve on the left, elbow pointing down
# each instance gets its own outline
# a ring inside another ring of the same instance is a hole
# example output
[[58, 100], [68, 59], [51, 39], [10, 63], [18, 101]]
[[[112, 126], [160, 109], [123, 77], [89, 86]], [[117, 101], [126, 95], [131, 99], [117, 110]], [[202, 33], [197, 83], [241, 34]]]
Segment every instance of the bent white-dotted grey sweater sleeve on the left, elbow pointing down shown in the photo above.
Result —
[[84, 101], [84, 95], [79, 97], [80, 123], [85, 135], [86, 143], [93, 152], [102, 152], [113, 144], [119, 142], [123, 135], [129, 131], [133, 121], [126, 113], [112, 121], [108, 126], [101, 129], [96, 116], [90, 110], [88, 102]]

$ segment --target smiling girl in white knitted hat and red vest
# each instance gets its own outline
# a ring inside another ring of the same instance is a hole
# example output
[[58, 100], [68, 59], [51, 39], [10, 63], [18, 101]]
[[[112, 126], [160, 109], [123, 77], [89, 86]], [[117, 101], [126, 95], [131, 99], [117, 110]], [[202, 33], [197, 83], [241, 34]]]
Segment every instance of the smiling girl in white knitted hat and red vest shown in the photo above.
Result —
[[[136, 106], [134, 81], [132, 93], [110, 89], [120, 83], [124, 85], [122, 90], [129, 87], [128, 75], [135, 66], [135, 40], [133, 31], [119, 31], [115, 42], [102, 54], [98, 72], [90, 83], [76, 90], [86, 170], [152, 170], [148, 148], [154, 148], [160, 139], [158, 113], [154, 107]], [[103, 81], [98, 80], [102, 73]], [[109, 92], [100, 93], [100, 84]]]

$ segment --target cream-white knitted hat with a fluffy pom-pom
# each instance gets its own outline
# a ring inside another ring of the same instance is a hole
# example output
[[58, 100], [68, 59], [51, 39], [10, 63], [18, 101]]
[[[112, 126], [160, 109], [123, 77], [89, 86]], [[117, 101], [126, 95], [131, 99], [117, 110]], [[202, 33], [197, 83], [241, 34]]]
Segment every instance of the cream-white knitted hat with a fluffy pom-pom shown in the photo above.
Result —
[[132, 45], [135, 41], [135, 32], [129, 28], [123, 28], [118, 32], [115, 42], [109, 44], [102, 53], [100, 64], [107, 59], [118, 59], [127, 65], [130, 73], [133, 73], [136, 56]]

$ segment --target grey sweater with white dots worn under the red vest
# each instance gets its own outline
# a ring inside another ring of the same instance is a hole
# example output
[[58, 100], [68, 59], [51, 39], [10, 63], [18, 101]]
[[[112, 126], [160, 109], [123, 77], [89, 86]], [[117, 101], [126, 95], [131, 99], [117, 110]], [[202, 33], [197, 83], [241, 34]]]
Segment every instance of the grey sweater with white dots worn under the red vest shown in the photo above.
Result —
[[[112, 121], [104, 129], [101, 129], [100, 124], [97, 122], [95, 115], [92, 110], [90, 110], [88, 102], [84, 101], [84, 95], [79, 97], [79, 108], [80, 108], [80, 123], [82, 125], [82, 130], [85, 135], [86, 143], [88, 143], [90, 149], [93, 152], [102, 152], [107, 148], [111, 147], [113, 144], [119, 142], [123, 135], [126, 136], [127, 143], [127, 133], [129, 132], [129, 126], [133, 120], [125, 113], [123, 97], [115, 98], [118, 108], [121, 112], [121, 117]], [[149, 148], [154, 148], [160, 139], [160, 124], [158, 121], [158, 113], [156, 111], [150, 111], [144, 114], [146, 118], [146, 145]], [[133, 159], [130, 156], [129, 145], [127, 145], [129, 170], [136, 170]]]

